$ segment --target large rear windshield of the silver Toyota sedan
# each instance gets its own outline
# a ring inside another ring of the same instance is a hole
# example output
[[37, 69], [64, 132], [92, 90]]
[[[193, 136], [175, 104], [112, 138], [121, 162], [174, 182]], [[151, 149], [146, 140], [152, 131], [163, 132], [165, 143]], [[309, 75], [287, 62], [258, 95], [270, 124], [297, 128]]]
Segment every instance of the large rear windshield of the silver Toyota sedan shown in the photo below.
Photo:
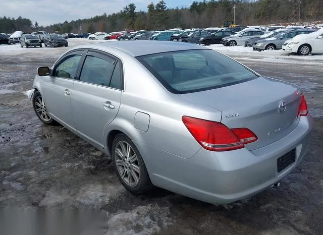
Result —
[[138, 56], [137, 60], [176, 94], [230, 86], [258, 77], [228, 56], [211, 49], [149, 54]]

